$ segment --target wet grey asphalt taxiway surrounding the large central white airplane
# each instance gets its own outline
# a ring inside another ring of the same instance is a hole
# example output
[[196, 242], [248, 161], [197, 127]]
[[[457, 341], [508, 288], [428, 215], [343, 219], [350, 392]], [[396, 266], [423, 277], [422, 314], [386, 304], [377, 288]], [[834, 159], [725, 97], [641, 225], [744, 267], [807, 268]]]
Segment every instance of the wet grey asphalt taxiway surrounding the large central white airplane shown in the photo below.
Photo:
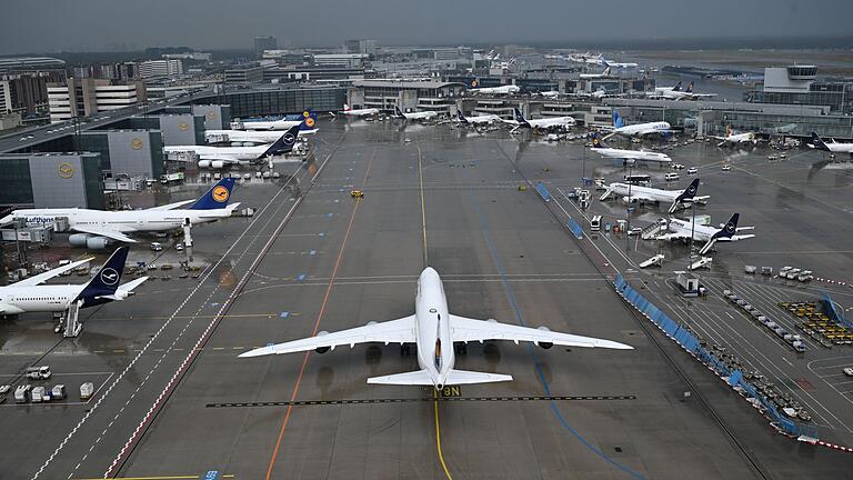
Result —
[[[568, 233], [555, 204], [518, 189], [525, 178], [573, 187], [581, 169], [603, 168], [603, 160], [586, 153], [581, 164], [579, 146], [505, 132], [395, 122], [322, 122], [314, 146], [313, 161], [287, 186], [234, 192], [258, 208], [253, 218], [197, 229], [197, 252], [212, 263], [199, 279], [151, 281], [93, 312], [79, 339], [50, 351], [37, 344], [56, 341], [43, 319], [3, 328], [0, 364], [9, 372], [37, 362], [56, 373], [87, 372], [90, 381], [104, 372], [87, 404], [0, 408], [9, 431], [21, 432], [0, 440], [10, 476], [845, 474], [846, 457], [773, 433], [646, 328], [610, 284], [608, 267], [625, 261], [615, 252], [621, 242], [608, 250], [601, 239], [596, 256]], [[353, 200], [352, 189], [364, 198]], [[237, 358], [268, 342], [411, 314], [426, 264], [442, 274], [455, 313], [635, 350], [471, 344], [459, 368], [514, 381], [466, 386], [441, 400], [429, 389], [365, 383], [417, 368], [399, 346]]]

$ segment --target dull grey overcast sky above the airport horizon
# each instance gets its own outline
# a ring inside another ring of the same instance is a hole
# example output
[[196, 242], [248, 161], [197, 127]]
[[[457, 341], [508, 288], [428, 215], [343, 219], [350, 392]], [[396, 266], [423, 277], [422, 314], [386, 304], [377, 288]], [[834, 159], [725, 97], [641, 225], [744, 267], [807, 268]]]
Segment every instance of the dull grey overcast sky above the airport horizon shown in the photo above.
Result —
[[[853, 0], [41, 0], [2, 6], [0, 54], [284, 46], [851, 36]], [[630, 43], [622, 48], [630, 49]]]

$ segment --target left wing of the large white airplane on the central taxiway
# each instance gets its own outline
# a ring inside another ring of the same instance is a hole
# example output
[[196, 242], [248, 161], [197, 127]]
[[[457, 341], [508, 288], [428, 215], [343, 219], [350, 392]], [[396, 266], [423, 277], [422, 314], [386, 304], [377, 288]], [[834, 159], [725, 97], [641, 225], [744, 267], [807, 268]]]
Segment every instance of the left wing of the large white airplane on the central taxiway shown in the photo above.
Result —
[[309, 351], [318, 348], [332, 348], [355, 343], [383, 342], [388, 343], [414, 343], [415, 342], [414, 316], [403, 317], [398, 320], [375, 323], [370, 322], [364, 327], [341, 330], [333, 333], [318, 334], [301, 340], [293, 340], [274, 346], [250, 350], [240, 357], [260, 357], [265, 354], [293, 353]]

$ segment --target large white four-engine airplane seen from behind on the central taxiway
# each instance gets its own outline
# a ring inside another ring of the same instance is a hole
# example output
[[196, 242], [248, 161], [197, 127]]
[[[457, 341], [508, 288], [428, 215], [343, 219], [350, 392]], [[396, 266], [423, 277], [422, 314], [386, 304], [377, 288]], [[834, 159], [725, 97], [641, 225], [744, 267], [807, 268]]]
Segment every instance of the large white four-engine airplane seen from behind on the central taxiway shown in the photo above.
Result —
[[[369, 322], [364, 327], [258, 348], [240, 357], [293, 353], [314, 350], [325, 353], [335, 347], [355, 343], [400, 343], [401, 353], [408, 350], [404, 343], [415, 343], [420, 370], [383, 377], [371, 377], [372, 384], [433, 386], [441, 390], [449, 384], [489, 383], [511, 381], [512, 376], [475, 372], [454, 369], [454, 342], [484, 342], [486, 340], [510, 340], [516, 344], [530, 341], [543, 349], [551, 347], [585, 347], [632, 350], [633, 347], [611, 340], [552, 332], [546, 327], [529, 328], [495, 320], [475, 320], [451, 314], [439, 273], [428, 267], [418, 278], [418, 293], [414, 314], [381, 323]], [[464, 349], [464, 347], [463, 347]], [[462, 350], [464, 351], [464, 350]]]

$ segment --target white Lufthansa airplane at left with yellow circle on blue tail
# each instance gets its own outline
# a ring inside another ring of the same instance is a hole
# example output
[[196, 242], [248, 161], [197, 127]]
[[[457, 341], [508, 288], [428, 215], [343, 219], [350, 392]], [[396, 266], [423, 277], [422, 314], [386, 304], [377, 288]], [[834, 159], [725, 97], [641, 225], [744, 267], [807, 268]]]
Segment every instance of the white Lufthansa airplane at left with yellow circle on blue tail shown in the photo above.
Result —
[[[231, 217], [240, 203], [228, 204], [233, 178], [223, 178], [198, 200], [183, 200], [147, 210], [104, 211], [81, 208], [50, 208], [13, 210], [0, 219], [0, 226], [23, 219], [28, 226], [54, 223], [60, 218], [68, 218], [68, 227], [76, 234], [68, 240], [74, 246], [90, 249], [104, 248], [109, 241], [136, 243], [127, 233], [169, 231], [179, 229], [185, 222], [190, 224], [212, 222]], [[192, 203], [187, 209], [181, 209]]]

